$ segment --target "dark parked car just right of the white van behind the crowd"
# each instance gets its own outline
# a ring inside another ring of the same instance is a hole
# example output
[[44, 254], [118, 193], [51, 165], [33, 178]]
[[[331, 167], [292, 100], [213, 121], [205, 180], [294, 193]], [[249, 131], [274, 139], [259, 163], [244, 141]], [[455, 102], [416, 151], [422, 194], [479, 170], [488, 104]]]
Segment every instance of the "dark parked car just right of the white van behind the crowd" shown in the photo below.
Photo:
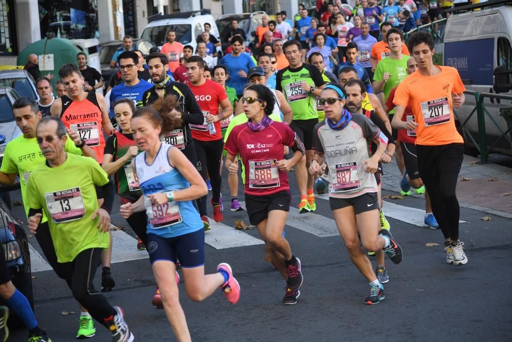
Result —
[[215, 23], [220, 32], [222, 51], [226, 51], [230, 45], [229, 42], [226, 43], [226, 38], [231, 31], [231, 21], [233, 19], [237, 19], [238, 27], [244, 30], [246, 45], [249, 47], [253, 44], [256, 28], [261, 25], [262, 17], [266, 14], [264, 11], [258, 11], [242, 14], [224, 14], [218, 17]]

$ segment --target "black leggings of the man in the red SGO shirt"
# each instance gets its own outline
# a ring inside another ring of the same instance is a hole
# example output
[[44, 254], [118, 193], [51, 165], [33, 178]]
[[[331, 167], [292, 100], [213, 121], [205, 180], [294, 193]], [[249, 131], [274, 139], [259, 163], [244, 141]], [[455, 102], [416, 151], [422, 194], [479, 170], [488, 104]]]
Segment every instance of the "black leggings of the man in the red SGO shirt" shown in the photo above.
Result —
[[[202, 140], [194, 139], [194, 145], [196, 146], [197, 156], [196, 168], [204, 180], [206, 180], [206, 171], [208, 171], [211, 183], [211, 197], [214, 202], [217, 203], [221, 196], [222, 177], [220, 174], [220, 167], [224, 142], [222, 139], [210, 142], [203, 142]], [[205, 195], [196, 200], [199, 214], [201, 216], [206, 215], [207, 199], [208, 195]]]

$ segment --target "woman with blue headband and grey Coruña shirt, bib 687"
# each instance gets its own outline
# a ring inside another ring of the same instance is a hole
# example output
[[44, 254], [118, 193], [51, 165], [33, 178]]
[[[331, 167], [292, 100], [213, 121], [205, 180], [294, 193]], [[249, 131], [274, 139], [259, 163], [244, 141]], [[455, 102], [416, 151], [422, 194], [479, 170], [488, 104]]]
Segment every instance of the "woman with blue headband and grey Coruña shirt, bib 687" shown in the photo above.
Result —
[[[342, 86], [329, 84], [321, 94], [326, 120], [314, 131], [315, 155], [309, 172], [320, 176], [325, 162], [331, 175], [329, 202], [352, 263], [370, 283], [370, 295], [365, 304], [378, 304], [384, 299], [384, 287], [372, 270], [370, 260], [362, 252], [382, 249], [393, 263], [402, 260], [402, 250], [386, 229], [378, 231], [377, 182], [373, 173], [386, 153], [387, 138], [364, 115], [351, 114], [344, 108], [346, 100]], [[378, 145], [369, 158], [369, 142]]]

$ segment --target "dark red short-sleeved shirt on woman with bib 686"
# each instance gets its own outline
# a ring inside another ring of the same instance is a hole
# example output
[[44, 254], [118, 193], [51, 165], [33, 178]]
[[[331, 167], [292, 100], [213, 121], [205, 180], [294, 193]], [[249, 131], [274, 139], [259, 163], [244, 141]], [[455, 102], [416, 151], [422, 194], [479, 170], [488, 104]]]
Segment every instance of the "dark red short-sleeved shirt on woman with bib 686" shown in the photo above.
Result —
[[224, 149], [231, 155], [240, 153], [246, 194], [270, 195], [290, 189], [288, 174], [277, 166], [284, 158], [283, 146], [295, 146], [295, 132], [285, 123], [273, 122], [259, 132], [251, 131], [248, 124], [233, 128]]

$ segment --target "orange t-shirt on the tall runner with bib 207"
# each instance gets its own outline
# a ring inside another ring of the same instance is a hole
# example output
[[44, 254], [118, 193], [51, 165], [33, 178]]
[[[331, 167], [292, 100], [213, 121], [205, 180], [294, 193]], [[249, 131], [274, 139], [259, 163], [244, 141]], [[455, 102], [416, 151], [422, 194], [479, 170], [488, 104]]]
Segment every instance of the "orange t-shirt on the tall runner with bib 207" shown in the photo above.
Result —
[[393, 103], [411, 104], [416, 128], [416, 145], [436, 146], [464, 143], [455, 128], [452, 94], [466, 90], [457, 69], [440, 67], [435, 76], [424, 76], [418, 70], [398, 86]]

